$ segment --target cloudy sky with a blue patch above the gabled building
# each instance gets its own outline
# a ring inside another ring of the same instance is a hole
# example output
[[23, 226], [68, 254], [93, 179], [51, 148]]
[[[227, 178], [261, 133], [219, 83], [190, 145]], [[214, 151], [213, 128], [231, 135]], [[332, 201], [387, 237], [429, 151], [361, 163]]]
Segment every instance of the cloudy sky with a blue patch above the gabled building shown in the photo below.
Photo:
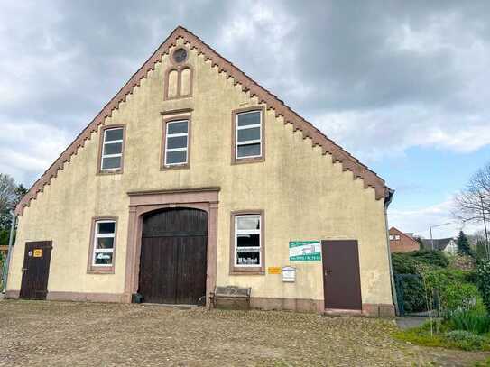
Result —
[[180, 24], [378, 172], [390, 224], [427, 237], [490, 161], [490, 2], [367, 3], [0, 0], [0, 172], [30, 186]]

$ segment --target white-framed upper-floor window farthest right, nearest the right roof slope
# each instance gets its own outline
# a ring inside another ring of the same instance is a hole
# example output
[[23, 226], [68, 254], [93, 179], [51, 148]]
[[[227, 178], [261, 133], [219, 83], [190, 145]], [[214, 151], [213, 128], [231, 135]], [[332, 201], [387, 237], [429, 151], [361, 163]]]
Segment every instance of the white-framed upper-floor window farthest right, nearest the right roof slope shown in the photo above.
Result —
[[236, 160], [262, 157], [262, 112], [236, 114]]

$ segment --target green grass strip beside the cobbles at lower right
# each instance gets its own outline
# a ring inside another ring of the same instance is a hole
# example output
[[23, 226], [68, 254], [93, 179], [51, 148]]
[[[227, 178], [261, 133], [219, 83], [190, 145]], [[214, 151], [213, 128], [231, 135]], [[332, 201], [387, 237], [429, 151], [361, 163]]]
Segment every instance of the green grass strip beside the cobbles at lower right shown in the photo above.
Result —
[[475, 344], [471, 340], [454, 339], [447, 337], [448, 326], [442, 326], [439, 334], [430, 335], [430, 323], [427, 322], [422, 326], [414, 327], [408, 330], [399, 331], [393, 334], [393, 337], [411, 344], [423, 346], [462, 349], [465, 351], [490, 351], [490, 335], [482, 335], [482, 343]]

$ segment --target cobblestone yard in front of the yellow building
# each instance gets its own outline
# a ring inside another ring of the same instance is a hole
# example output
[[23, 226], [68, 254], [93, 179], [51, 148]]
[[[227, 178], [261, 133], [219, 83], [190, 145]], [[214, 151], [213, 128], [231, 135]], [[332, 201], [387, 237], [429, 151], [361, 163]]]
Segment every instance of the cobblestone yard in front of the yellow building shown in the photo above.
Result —
[[0, 301], [0, 365], [471, 365], [393, 340], [393, 321], [278, 311]]

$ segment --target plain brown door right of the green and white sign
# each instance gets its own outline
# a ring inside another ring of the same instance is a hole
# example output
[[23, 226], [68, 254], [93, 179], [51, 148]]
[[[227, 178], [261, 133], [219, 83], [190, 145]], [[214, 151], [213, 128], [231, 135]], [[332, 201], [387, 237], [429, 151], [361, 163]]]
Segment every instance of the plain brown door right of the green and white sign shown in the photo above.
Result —
[[357, 241], [322, 241], [325, 308], [362, 308]]

